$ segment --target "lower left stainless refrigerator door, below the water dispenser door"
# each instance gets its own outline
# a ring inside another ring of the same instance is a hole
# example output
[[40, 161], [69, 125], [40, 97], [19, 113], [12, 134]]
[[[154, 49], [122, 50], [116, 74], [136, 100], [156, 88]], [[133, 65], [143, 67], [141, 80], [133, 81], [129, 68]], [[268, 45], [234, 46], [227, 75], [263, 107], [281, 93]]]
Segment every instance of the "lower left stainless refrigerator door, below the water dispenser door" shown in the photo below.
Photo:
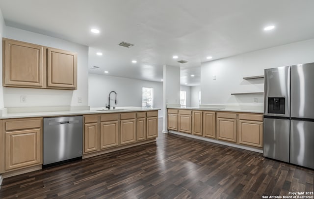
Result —
[[289, 162], [290, 120], [264, 118], [263, 155]]

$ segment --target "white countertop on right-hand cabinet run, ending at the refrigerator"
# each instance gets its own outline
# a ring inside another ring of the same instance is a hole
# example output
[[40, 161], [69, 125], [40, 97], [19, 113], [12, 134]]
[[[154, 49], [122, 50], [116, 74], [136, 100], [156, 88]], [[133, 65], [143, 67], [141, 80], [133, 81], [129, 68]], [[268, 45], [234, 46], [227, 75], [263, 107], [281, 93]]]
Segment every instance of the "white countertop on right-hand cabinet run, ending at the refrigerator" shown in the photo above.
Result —
[[202, 111], [223, 111], [223, 112], [241, 112], [241, 113], [255, 113], [255, 114], [262, 114], [264, 113], [261, 108], [253, 109], [247, 107], [206, 107], [206, 108], [199, 108], [199, 107], [167, 107], [168, 109], [186, 109], [186, 110], [202, 110]]

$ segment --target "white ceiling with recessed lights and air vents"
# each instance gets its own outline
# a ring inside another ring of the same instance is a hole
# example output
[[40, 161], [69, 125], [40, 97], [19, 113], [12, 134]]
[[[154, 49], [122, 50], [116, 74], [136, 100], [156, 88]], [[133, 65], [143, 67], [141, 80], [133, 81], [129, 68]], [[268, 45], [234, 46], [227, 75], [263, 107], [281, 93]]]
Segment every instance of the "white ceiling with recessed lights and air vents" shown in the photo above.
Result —
[[181, 67], [182, 85], [200, 84], [208, 56], [314, 37], [313, 0], [0, 0], [0, 8], [7, 26], [89, 46], [90, 73], [160, 82], [166, 64]]

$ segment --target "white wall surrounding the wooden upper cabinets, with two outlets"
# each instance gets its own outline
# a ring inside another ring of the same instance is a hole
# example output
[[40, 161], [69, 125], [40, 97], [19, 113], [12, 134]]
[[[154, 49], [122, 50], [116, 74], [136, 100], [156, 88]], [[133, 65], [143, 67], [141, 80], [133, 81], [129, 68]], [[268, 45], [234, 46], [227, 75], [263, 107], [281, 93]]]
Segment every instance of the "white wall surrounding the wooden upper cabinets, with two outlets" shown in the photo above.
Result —
[[[3, 87], [4, 107], [88, 106], [87, 46], [12, 27], [5, 27], [4, 36], [9, 39], [25, 41], [78, 53], [77, 90]], [[27, 96], [26, 103], [20, 102], [21, 95]], [[78, 97], [82, 98], [82, 103], [78, 103]]]

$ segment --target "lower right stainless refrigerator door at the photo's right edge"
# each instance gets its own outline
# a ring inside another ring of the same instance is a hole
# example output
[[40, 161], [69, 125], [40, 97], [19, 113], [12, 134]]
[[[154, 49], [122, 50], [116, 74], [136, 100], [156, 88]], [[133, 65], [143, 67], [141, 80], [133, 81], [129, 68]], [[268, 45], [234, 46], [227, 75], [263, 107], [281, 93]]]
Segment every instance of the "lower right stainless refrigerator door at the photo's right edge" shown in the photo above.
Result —
[[314, 169], [314, 122], [291, 120], [290, 163]]

